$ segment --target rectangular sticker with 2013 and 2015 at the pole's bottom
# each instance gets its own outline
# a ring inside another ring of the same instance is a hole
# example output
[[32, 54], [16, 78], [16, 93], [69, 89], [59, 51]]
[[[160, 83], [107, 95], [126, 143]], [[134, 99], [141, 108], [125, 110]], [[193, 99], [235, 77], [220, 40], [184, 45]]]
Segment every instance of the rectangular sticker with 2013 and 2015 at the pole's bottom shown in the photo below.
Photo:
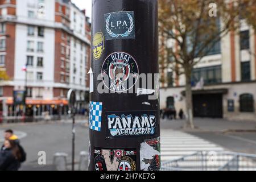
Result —
[[95, 171], [136, 171], [135, 148], [108, 149], [94, 147]]

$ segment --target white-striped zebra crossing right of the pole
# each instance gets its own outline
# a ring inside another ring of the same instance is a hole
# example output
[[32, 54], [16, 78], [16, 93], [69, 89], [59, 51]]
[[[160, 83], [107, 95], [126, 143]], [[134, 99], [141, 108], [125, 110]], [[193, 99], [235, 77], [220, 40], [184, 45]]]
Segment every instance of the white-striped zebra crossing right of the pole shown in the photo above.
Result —
[[224, 151], [208, 140], [171, 129], [161, 130], [161, 160], [175, 160], [196, 151]]

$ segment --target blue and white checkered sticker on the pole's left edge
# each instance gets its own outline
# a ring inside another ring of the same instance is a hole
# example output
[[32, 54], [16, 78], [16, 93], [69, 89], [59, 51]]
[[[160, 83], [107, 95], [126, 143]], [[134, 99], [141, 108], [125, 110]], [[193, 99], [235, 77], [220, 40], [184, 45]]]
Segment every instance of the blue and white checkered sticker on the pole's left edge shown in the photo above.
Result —
[[89, 128], [101, 131], [102, 102], [90, 102]]

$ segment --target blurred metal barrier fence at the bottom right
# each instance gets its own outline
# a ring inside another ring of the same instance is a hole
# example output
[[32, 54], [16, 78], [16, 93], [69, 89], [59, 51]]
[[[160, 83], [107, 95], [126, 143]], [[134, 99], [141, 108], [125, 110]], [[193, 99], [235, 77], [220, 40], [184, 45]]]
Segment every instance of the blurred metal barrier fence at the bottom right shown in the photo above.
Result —
[[162, 162], [162, 171], [256, 171], [256, 155], [225, 151], [197, 151]]

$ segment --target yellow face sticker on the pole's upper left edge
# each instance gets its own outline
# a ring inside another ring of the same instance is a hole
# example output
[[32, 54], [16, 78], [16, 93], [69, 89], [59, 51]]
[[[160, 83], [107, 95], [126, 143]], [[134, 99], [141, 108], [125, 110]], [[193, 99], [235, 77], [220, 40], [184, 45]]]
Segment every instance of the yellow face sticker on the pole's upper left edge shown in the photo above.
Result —
[[97, 32], [93, 36], [92, 50], [94, 60], [100, 59], [104, 50], [104, 35], [101, 32]]

